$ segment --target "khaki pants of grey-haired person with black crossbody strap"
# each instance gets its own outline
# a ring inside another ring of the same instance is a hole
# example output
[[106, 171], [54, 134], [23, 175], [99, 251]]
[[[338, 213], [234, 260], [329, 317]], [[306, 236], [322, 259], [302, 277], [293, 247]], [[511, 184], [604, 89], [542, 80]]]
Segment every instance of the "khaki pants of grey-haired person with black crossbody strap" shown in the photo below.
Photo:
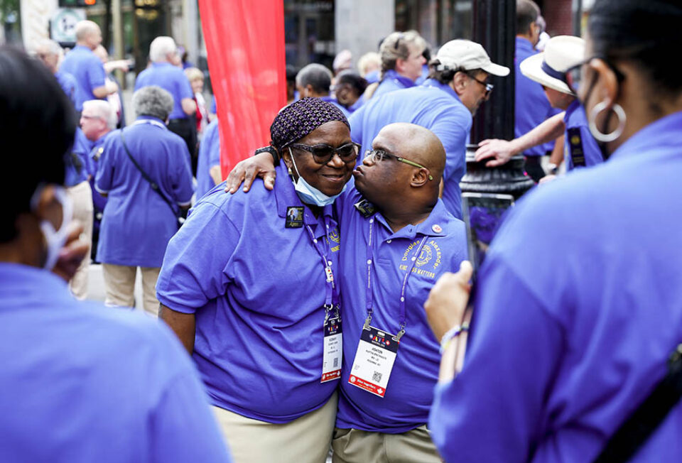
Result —
[[[144, 310], [150, 315], [158, 315], [158, 299], [156, 299], [156, 280], [161, 267], [140, 267], [142, 273], [142, 298]], [[102, 263], [102, 275], [107, 298], [106, 305], [133, 307], [135, 304], [135, 276], [137, 267], [117, 266]]]

